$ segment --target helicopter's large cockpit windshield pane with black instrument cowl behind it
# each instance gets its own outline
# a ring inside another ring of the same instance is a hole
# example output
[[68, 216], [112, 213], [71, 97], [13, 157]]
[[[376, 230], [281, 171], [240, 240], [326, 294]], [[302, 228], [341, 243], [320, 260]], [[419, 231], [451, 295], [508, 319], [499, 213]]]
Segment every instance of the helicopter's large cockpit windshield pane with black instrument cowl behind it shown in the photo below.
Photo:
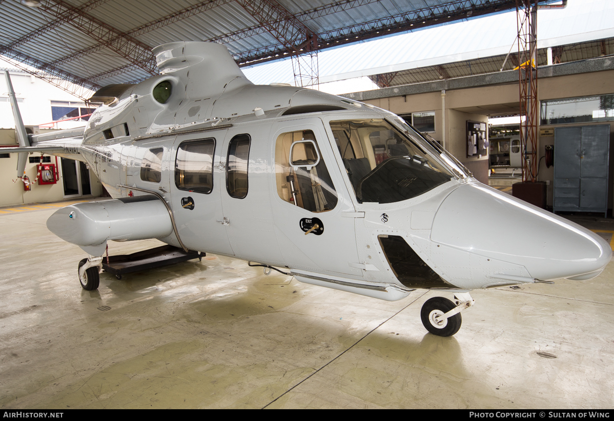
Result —
[[333, 121], [330, 128], [359, 203], [411, 199], [454, 178], [424, 139], [383, 118]]

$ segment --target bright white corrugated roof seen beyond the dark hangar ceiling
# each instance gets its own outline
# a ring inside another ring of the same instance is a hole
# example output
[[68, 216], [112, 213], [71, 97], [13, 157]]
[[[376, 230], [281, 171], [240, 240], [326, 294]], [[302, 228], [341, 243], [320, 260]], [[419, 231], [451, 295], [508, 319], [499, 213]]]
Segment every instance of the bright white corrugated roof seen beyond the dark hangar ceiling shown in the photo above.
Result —
[[[570, 1], [563, 10], [540, 10], [537, 21], [538, 48], [614, 37], [614, 1]], [[507, 55], [510, 47], [512, 52], [518, 50], [512, 45], [516, 34], [516, 13], [507, 12], [325, 50], [318, 54], [319, 80], [326, 83], [461, 61], [472, 61], [470, 65], [473, 66], [476, 60], [475, 65], [482, 66], [476, 69], [476, 74], [499, 71], [503, 59], [493, 60], [492, 57]], [[499, 67], [493, 69], [495, 62]], [[294, 83], [290, 60], [260, 64], [243, 71], [254, 83]], [[448, 72], [451, 77], [465, 75], [454, 72], [454, 66], [449, 66]], [[407, 83], [424, 81], [419, 80], [419, 72], [413, 74], [414, 80]], [[395, 77], [395, 84], [400, 84], [397, 77], [399, 75]], [[426, 77], [425, 80], [433, 79]]]

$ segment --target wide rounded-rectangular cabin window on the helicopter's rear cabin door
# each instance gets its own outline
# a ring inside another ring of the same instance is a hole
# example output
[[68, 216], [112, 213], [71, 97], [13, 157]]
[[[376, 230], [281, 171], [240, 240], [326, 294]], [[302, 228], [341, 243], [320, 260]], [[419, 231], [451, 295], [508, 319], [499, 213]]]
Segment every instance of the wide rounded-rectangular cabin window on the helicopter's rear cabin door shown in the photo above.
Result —
[[209, 194], [213, 188], [213, 153], [216, 139], [186, 141], [175, 160], [175, 185], [179, 190]]

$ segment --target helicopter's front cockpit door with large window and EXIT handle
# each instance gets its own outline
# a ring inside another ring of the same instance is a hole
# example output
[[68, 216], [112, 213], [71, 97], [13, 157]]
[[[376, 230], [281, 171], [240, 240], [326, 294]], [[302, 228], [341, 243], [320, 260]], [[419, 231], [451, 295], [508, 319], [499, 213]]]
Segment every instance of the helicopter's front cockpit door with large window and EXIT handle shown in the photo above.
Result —
[[[362, 277], [351, 217], [354, 205], [322, 120], [276, 123], [270, 139], [271, 204], [284, 260], [295, 269]], [[319, 228], [310, 231], [316, 223]]]

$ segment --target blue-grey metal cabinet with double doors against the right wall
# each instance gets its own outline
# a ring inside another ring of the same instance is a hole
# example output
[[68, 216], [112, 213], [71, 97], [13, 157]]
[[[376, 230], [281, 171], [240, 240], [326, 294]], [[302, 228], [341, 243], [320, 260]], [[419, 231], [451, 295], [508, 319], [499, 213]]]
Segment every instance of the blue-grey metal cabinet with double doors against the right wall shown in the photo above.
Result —
[[554, 129], [554, 212], [604, 212], [610, 125]]

